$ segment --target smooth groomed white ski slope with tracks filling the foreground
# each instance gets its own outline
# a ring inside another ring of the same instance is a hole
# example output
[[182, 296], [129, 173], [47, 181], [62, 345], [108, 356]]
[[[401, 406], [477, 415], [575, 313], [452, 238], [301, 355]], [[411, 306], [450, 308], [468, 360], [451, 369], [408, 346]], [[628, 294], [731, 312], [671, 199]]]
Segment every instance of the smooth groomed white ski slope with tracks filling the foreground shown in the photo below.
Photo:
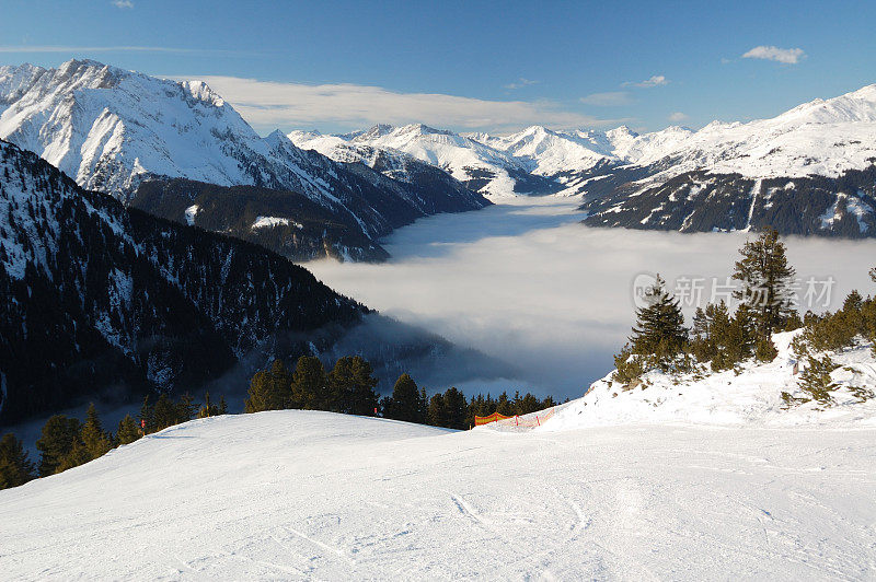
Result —
[[0, 491], [0, 578], [876, 575], [876, 429], [544, 429], [195, 420]]

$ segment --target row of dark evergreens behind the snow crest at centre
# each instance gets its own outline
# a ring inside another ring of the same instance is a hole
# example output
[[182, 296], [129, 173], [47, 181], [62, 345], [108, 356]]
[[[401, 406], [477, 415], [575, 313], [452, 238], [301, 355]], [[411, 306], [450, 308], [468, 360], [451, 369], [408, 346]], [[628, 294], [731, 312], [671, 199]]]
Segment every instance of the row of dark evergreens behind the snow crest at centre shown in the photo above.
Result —
[[475, 415], [526, 415], [556, 405], [550, 397], [539, 399], [519, 393], [514, 398], [502, 393], [498, 398], [479, 394], [468, 399], [456, 387], [429, 397], [408, 374], [399, 376], [391, 395], [379, 398], [374, 392], [377, 384], [371, 364], [359, 356], [341, 358], [330, 372], [312, 356], [299, 358], [292, 372], [281, 360], [275, 360], [250, 381], [244, 408], [246, 412], [288, 408], [327, 410], [468, 429], [474, 426]]

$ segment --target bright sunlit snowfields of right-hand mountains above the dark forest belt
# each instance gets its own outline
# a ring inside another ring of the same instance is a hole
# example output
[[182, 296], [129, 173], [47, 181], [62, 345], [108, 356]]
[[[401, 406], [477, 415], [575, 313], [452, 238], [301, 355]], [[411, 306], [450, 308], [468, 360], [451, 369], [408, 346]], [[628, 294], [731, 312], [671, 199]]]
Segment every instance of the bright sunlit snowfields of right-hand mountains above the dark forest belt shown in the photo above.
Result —
[[507, 137], [477, 139], [531, 160], [535, 171], [548, 176], [611, 161], [641, 166], [661, 162], [664, 177], [693, 170], [751, 178], [837, 177], [865, 168], [876, 158], [876, 84], [818, 98], [774, 118], [713, 121], [699, 131], [669, 127], [638, 135], [625, 126], [604, 132], [534, 126]]

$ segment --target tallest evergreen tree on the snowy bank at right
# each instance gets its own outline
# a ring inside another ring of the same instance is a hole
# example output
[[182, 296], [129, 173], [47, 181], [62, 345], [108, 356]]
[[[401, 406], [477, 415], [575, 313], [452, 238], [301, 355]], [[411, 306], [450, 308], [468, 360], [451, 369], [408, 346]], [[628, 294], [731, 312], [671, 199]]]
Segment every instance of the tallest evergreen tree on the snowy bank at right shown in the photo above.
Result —
[[734, 296], [746, 306], [758, 337], [769, 338], [784, 329], [794, 313], [791, 286], [795, 270], [788, 265], [785, 245], [779, 233], [766, 229], [756, 241], [747, 241], [739, 249], [742, 256], [733, 278], [742, 283]]

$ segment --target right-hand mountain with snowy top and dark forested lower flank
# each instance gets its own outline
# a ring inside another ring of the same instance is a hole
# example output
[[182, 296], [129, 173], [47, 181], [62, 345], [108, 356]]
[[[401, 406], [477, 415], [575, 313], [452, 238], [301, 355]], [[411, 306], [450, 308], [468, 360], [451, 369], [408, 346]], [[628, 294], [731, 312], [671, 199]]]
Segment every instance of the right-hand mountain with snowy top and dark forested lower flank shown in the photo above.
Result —
[[[585, 188], [586, 224], [876, 236], [876, 85], [775, 118], [713, 123]], [[630, 166], [622, 172], [631, 172]]]

